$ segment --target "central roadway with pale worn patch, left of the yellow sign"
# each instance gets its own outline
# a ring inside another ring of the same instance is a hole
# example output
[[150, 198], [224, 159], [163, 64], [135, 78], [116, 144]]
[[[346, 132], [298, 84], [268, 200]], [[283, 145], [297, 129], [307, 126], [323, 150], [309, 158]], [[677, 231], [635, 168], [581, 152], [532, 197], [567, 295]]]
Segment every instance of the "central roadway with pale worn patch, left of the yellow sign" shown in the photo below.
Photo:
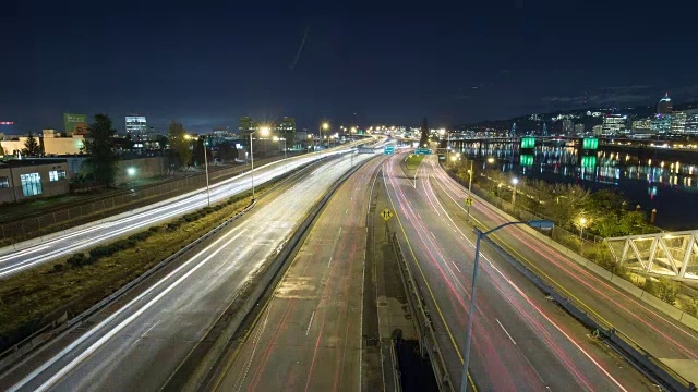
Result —
[[366, 163], [338, 188], [245, 340], [224, 356], [207, 389], [361, 390], [366, 184], [381, 160]]

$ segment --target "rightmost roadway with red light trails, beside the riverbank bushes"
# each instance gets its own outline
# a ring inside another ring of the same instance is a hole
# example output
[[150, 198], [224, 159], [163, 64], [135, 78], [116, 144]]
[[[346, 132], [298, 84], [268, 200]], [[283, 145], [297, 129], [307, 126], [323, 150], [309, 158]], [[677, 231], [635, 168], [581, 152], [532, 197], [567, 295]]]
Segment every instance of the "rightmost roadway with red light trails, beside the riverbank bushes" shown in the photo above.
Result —
[[[466, 212], [462, 200], [467, 191], [450, 179], [434, 158], [424, 167], [423, 175], [429, 175], [441, 203], [456, 221], [462, 222]], [[482, 200], [473, 205], [471, 213], [481, 228], [494, 228], [505, 222]], [[580, 267], [520, 228], [503, 229], [494, 233], [493, 238], [559, 293], [581, 304], [583, 310], [614, 326], [673, 370], [698, 384], [696, 331]]]

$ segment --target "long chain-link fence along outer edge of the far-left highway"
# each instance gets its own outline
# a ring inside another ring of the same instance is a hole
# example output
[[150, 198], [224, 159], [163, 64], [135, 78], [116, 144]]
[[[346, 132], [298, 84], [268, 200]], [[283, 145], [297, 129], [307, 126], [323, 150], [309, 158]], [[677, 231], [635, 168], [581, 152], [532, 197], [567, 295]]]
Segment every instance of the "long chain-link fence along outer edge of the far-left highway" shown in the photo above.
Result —
[[[280, 158], [261, 159], [255, 161], [255, 166], [262, 166], [278, 159]], [[249, 164], [209, 170], [209, 182], [213, 184], [246, 170], [250, 170]], [[183, 195], [204, 186], [206, 186], [206, 176], [204, 173], [197, 173], [168, 180], [159, 184], [134, 187], [129, 191], [119, 192], [110, 197], [96, 199], [95, 201], [85, 201], [64, 209], [48, 211], [35, 217], [0, 224], [0, 245], [10, 245], [20, 241], [64, 230], [92, 220], [119, 213], [120, 211], [133, 209], [141, 205], [155, 203], [158, 199]]]

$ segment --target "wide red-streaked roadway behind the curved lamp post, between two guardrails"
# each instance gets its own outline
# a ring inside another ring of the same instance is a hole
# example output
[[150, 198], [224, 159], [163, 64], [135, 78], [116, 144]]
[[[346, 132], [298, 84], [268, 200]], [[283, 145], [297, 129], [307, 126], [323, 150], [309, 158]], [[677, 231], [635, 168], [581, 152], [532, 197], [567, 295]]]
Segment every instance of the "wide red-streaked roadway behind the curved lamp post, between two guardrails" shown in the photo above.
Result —
[[[438, 176], [433, 159], [414, 172], [406, 170], [405, 158], [393, 157], [383, 170], [397, 212], [392, 226], [420, 282], [458, 388], [474, 233], [454, 201], [462, 200], [462, 195], [452, 195], [452, 200], [441, 189], [446, 179]], [[470, 355], [470, 372], [480, 390], [655, 389], [498, 254], [483, 247], [482, 258]]]

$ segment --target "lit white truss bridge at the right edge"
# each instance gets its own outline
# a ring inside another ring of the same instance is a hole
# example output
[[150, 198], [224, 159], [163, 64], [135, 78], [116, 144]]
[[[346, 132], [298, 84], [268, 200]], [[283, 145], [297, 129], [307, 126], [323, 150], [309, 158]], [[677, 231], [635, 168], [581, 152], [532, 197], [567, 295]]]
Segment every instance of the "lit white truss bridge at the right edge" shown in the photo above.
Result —
[[628, 270], [698, 281], [698, 230], [613, 237], [606, 244]]

